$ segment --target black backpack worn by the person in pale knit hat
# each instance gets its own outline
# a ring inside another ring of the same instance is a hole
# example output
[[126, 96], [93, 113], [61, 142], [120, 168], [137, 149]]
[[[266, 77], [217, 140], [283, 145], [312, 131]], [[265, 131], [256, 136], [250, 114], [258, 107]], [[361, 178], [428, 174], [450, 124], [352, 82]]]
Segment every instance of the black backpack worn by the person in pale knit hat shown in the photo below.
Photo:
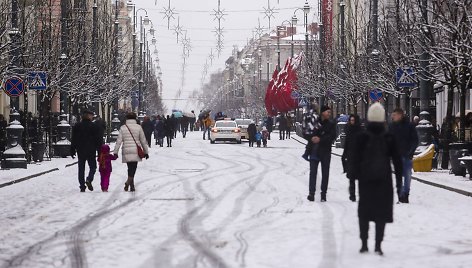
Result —
[[361, 156], [361, 180], [380, 181], [391, 177], [390, 153], [385, 135], [368, 133], [368, 140]]

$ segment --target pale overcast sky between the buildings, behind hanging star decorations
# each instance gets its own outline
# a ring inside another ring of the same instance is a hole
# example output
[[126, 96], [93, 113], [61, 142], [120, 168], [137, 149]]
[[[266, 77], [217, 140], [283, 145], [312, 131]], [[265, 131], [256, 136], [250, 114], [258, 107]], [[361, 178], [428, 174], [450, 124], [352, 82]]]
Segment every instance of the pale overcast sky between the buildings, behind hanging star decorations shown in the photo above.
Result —
[[[221, 9], [227, 14], [222, 20], [224, 28], [224, 49], [218, 58], [216, 51], [216, 36], [213, 32], [218, 26], [217, 20], [212, 13], [218, 9], [218, 0], [170, 0], [170, 5], [175, 8], [175, 19], [170, 21], [170, 30], [167, 29], [167, 19], [164, 18], [164, 7], [167, 8], [169, 0], [133, 0], [138, 8], [145, 8], [149, 12], [149, 17], [153, 22], [157, 32], [157, 48], [159, 51], [160, 66], [163, 73], [164, 91], [163, 98], [167, 108], [181, 109], [189, 111], [198, 109], [189, 100], [175, 102], [176, 94], [181, 88], [182, 79], [182, 45], [177, 44], [177, 37], [173, 28], [177, 25], [177, 18], [180, 18], [180, 25], [187, 30], [187, 37], [191, 41], [192, 50], [190, 58], [187, 59], [185, 72], [185, 84], [180, 99], [187, 99], [194, 89], [200, 89], [201, 77], [205, 61], [209, 58], [211, 49], [215, 54], [213, 65], [208, 74], [224, 69], [225, 60], [231, 56], [233, 46], [240, 49], [244, 47], [247, 40], [252, 38], [253, 30], [258, 25], [260, 19], [261, 26], [267, 32], [268, 20], [264, 11], [268, 8], [267, 0], [220, 0]], [[271, 8], [274, 9], [274, 17], [271, 20], [271, 27], [280, 24], [284, 20], [290, 20], [297, 7], [303, 7], [305, 0], [269, 0]], [[157, 5], [156, 5], [157, 2]], [[316, 0], [308, 1], [311, 6], [309, 22], [316, 21], [318, 4]], [[297, 11], [299, 23], [303, 23], [303, 12]], [[151, 51], [153, 51], [152, 49]], [[210, 62], [210, 61], [209, 61]], [[207, 78], [209, 75], [207, 76]]]

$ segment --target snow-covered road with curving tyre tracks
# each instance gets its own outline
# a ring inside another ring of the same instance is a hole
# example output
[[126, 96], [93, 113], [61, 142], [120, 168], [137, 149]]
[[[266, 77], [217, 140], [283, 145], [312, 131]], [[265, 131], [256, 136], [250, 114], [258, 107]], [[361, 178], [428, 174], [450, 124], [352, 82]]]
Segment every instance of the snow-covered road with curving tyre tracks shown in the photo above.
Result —
[[[80, 193], [77, 166], [0, 189], [0, 267], [470, 267], [472, 199], [417, 182], [395, 206], [384, 257], [360, 255], [357, 204], [333, 156], [328, 202], [306, 198], [303, 145], [151, 148], [135, 193]], [[319, 187], [319, 185], [318, 185]], [[372, 228], [371, 228], [372, 229]]]

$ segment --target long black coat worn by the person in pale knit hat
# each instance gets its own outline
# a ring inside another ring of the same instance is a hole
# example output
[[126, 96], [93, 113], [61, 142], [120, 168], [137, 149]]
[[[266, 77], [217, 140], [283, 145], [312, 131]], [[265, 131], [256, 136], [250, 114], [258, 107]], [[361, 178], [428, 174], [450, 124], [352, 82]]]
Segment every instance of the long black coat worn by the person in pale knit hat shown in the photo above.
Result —
[[[402, 187], [402, 162], [395, 144], [395, 138], [386, 132], [383, 124], [369, 124], [366, 131], [356, 137], [353, 160], [348, 161], [353, 177], [359, 180], [359, 218], [369, 221], [393, 222], [393, 183], [392, 168], [387, 165], [384, 179], [372, 179], [372, 172], [362, 170], [364, 150], [371, 137], [384, 136], [388, 157], [393, 161], [395, 168], [396, 187], [399, 193]], [[369, 159], [366, 159], [369, 161]]]

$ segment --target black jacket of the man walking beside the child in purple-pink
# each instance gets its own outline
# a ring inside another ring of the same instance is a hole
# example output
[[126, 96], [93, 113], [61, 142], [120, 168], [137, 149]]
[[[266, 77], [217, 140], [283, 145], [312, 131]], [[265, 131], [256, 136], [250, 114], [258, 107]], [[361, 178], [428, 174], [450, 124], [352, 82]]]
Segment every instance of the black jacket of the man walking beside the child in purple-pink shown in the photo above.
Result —
[[103, 138], [97, 124], [83, 119], [72, 128], [71, 153], [79, 158], [94, 157], [100, 152]]

